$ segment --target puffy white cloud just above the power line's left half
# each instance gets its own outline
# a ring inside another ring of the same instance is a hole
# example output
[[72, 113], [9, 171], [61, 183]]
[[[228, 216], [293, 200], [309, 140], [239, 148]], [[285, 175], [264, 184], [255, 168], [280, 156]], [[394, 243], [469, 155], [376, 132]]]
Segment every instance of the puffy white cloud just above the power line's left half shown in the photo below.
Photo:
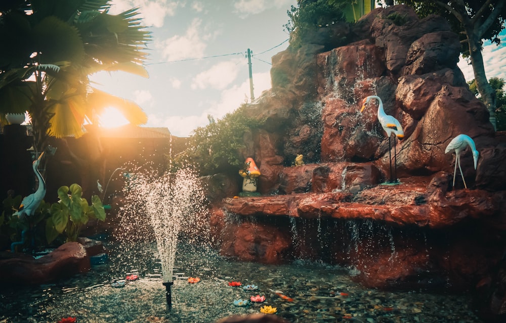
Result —
[[167, 61], [203, 57], [206, 48], [203, 39], [206, 39], [207, 36], [202, 35], [201, 24], [202, 21], [195, 18], [184, 35], [176, 35], [157, 42], [155, 45], [157, 48], [161, 48], [162, 57]]

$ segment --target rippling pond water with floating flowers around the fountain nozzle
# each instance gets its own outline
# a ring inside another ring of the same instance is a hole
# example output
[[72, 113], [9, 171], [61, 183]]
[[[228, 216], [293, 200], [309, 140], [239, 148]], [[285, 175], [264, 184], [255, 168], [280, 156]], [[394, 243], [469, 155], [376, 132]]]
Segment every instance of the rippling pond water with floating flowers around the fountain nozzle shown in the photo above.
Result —
[[[109, 259], [92, 270], [55, 284], [0, 289], [0, 322], [57, 322], [72, 316], [78, 323], [212, 323], [236, 314], [259, 313], [269, 305], [289, 322], [482, 322], [470, 295], [364, 289], [349, 270], [323, 263], [284, 265], [239, 262], [213, 249], [178, 245], [173, 306], [167, 311], [161, 264], [155, 243], [131, 245], [128, 253], [107, 246]], [[139, 279], [115, 288], [126, 275]], [[200, 281], [189, 284], [188, 277]], [[229, 282], [241, 282], [231, 287]], [[258, 290], [242, 287], [254, 284]], [[287, 301], [278, 293], [292, 298]], [[265, 295], [264, 303], [245, 307], [234, 300]]]

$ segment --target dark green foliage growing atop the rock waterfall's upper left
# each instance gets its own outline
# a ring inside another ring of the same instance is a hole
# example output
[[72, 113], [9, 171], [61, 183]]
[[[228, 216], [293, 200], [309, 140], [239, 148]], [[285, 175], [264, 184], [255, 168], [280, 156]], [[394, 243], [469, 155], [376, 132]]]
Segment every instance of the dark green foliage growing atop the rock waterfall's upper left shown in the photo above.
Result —
[[300, 48], [316, 29], [345, 21], [343, 9], [347, 4], [345, 0], [315, 0], [300, 1], [299, 7], [291, 6], [286, 12], [290, 20], [283, 25], [290, 33], [290, 45]]

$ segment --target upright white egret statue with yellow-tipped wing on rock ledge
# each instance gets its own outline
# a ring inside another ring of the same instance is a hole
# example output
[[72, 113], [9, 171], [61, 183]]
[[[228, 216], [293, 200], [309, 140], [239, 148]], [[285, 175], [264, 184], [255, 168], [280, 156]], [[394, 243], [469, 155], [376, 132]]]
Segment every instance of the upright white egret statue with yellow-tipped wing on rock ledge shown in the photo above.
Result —
[[[395, 137], [399, 138], [399, 140], [404, 138], [404, 131], [402, 131], [402, 126], [400, 122], [392, 117], [391, 115], [388, 115], [385, 113], [385, 110], [383, 110], [383, 102], [382, 100], [377, 96], [368, 96], [364, 100], [362, 100], [362, 109], [360, 109], [360, 112], [362, 112], [365, 109], [365, 106], [369, 103], [371, 99], [376, 99], [378, 102], [378, 121], [381, 124], [383, 130], [387, 133], [388, 137], [388, 156], [390, 161], [390, 182], [397, 182], [397, 151], [395, 148]], [[392, 154], [391, 150], [392, 147], [390, 146], [390, 136], [395, 134], [394, 136], [394, 167], [395, 167], [395, 176], [392, 173]]]

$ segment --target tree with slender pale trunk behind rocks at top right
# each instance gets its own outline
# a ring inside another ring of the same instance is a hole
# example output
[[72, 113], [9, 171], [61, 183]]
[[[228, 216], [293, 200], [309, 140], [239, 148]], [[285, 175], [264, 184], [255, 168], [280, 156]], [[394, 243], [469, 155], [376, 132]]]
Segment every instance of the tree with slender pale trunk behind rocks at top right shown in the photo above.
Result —
[[473, 66], [476, 87], [490, 113], [490, 122], [497, 129], [495, 90], [488, 83], [481, 53], [483, 39], [500, 44], [497, 35], [504, 29], [506, 0], [396, 1], [412, 7], [420, 17], [438, 14], [445, 17], [453, 31], [461, 35], [462, 50]]

